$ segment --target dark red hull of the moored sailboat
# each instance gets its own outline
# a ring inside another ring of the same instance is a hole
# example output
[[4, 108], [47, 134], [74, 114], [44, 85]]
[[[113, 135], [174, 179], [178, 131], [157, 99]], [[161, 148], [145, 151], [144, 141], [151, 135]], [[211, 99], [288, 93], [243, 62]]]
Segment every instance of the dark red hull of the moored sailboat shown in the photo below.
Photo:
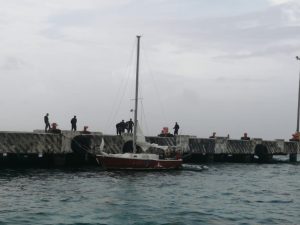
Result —
[[106, 170], [175, 170], [182, 168], [181, 159], [136, 159], [107, 155], [96, 156], [98, 164]]

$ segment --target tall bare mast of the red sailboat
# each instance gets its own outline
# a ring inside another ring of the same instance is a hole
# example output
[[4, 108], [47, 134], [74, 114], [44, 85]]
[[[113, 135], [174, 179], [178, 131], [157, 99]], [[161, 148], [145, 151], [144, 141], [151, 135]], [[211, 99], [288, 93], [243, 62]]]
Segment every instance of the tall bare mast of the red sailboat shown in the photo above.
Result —
[[136, 78], [135, 78], [135, 107], [134, 107], [134, 130], [133, 130], [133, 153], [136, 153], [136, 131], [137, 131], [137, 109], [139, 96], [139, 63], [140, 63], [140, 38], [137, 37], [137, 53], [136, 53]]

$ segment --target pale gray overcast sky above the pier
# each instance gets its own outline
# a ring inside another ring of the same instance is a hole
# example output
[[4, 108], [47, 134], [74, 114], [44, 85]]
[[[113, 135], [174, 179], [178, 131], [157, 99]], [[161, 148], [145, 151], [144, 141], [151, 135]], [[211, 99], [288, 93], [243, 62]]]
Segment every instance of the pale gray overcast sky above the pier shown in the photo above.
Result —
[[300, 2], [0, 0], [1, 130], [114, 133], [132, 116], [141, 34], [146, 135], [276, 139], [296, 129]]

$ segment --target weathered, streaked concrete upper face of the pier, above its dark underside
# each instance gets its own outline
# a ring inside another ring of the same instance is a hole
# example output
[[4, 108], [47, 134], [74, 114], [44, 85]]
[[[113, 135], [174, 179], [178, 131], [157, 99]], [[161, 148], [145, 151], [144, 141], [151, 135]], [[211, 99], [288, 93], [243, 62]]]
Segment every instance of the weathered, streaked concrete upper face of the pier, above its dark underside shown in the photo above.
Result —
[[[299, 154], [299, 142], [284, 140], [249, 141], [234, 140], [223, 137], [215, 139], [196, 138], [195, 136], [146, 137], [150, 143], [177, 147], [178, 150], [201, 154], [255, 154], [258, 147], [264, 148], [267, 154]], [[44, 132], [0, 132], [0, 153], [50, 153], [68, 154], [76, 152], [76, 144], [81, 150], [93, 154], [100, 153], [101, 142], [104, 151], [121, 153], [124, 145], [132, 141], [132, 135], [103, 135], [100, 132], [81, 134], [80, 132], [62, 131], [61, 134]], [[77, 146], [77, 150], [78, 147]]]

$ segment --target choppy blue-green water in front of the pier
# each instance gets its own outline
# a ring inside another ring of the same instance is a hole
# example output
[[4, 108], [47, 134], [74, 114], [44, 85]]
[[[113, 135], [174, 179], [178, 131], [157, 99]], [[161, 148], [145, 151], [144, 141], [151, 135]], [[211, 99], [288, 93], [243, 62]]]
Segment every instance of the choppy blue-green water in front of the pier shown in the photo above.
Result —
[[0, 170], [0, 224], [300, 224], [300, 164]]

